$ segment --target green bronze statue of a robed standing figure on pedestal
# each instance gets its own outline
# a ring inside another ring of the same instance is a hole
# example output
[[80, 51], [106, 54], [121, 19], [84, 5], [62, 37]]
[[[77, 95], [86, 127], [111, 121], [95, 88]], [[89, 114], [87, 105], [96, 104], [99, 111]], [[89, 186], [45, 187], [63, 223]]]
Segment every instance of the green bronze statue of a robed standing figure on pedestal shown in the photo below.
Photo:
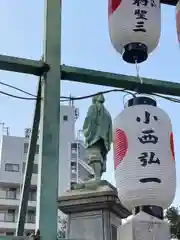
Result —
[[83, 125], [88, 164], [94, 170], [95, 179], [101, 179], [106, 172], [106, 159], [112, 142], [112, 119], [104, 102], [102, 94], [93, 97]]

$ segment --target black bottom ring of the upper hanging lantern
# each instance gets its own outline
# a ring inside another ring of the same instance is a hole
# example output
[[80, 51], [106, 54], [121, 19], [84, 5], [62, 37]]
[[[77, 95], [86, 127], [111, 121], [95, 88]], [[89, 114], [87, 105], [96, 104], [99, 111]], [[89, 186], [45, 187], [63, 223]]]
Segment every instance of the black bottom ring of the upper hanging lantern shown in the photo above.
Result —
[[124, 46], [122, 57], [128, 63], [142, 63], [148, 58], [148, 48], [142, 43], [128, 43]]

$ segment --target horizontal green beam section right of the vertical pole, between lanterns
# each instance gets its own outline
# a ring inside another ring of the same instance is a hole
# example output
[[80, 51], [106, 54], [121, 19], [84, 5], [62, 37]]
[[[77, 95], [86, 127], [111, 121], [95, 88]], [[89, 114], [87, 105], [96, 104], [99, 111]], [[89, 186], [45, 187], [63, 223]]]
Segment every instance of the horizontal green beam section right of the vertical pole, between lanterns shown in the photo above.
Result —
[[180, 96], [180, 84], [143, 78], [143, 84], [134, 76], [88, 70], [84, 68], [61, 66], [61, 78], [63, 80], [90, 83], [95, 85], [125, 88], [131, 91], [143, 93], [159, 93], [172, 96]]

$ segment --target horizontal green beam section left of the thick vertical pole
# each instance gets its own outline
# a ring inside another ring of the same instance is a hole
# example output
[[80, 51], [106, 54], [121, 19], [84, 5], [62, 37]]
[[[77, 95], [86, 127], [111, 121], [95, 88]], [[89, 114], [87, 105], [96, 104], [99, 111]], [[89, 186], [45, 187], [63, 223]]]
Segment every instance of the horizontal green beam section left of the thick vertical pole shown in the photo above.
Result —
[[0, 70], [41, 76], [48, 69], [43, 61], [0, 55]]

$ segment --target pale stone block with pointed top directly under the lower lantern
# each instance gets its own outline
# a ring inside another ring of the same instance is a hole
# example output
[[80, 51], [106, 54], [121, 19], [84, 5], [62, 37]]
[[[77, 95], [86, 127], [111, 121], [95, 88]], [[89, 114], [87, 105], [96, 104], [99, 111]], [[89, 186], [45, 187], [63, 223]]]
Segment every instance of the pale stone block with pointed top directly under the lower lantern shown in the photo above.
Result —
[[139, 212], [120, 227], [123, 240], [170, 240], [170, 229], [166, 221]]

